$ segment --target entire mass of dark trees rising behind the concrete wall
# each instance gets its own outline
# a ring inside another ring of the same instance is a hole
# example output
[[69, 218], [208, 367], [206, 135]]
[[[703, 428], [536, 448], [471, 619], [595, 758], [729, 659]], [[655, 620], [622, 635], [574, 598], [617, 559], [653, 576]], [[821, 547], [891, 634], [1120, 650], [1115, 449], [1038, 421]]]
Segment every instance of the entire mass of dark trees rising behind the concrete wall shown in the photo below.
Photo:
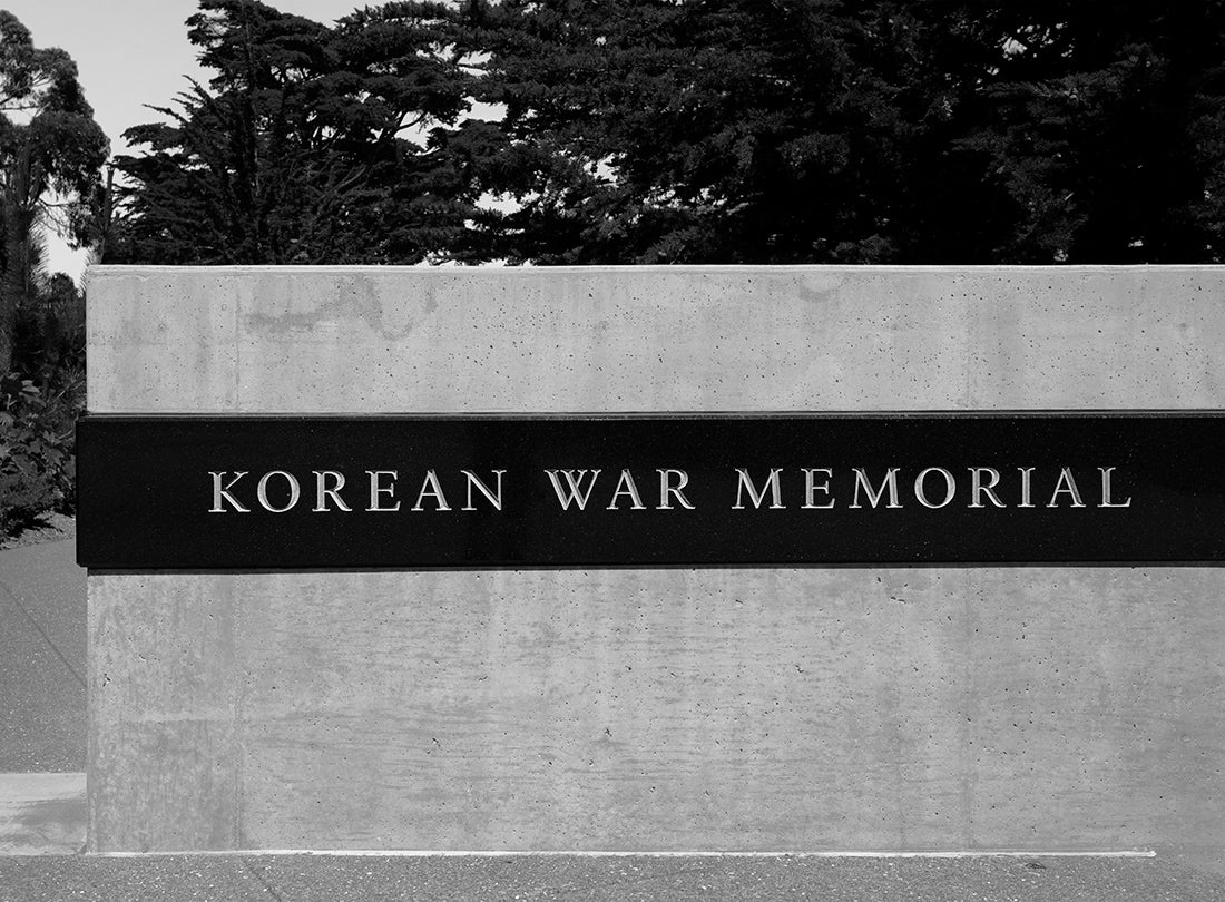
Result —
[[1225, 254], [1216, 0], [201, 9], [218, 75], [130, 132], [110, 259]]

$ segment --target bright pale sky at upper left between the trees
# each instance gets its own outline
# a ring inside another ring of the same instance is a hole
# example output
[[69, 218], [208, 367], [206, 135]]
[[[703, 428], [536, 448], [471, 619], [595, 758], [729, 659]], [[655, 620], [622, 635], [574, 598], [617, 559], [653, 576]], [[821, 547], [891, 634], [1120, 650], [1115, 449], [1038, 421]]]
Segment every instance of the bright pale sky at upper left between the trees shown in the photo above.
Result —
[[[368, 5], [361, 0], [265, 0], [282, 12], [331, 23]], [[370, 5], [376, 5], [370, 2]], [[184, 21], [196, 0], [0, 0], [29, 28], [34, 47], [67, 50], [81, 71], [86, 99], [110, 138], [111, 152], [124, 152], [125, 129], [157, 121], [142, 104], [169, 105], [186, 87], [185, 75], [207, 78], [196, 64]], [[83, 254], [49, 238], [53, 271], [78, 277]]]

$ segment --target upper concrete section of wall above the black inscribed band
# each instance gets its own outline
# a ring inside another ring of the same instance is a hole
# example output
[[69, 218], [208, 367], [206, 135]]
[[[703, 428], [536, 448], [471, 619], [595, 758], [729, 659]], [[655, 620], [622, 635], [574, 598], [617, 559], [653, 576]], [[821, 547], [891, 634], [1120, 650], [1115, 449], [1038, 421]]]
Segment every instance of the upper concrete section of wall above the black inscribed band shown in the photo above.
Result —
[[99, 413], [1225, 406], [1221, 266], [87, 273]]

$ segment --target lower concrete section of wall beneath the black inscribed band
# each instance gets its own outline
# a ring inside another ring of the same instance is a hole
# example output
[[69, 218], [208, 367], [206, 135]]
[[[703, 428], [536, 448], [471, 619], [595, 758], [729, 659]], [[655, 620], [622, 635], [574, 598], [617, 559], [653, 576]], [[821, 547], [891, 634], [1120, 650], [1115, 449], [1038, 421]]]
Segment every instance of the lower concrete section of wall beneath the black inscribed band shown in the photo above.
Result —
[[1225, 839], [1218, 570], [96, 575], [89, 591], [98, 852], [1219, 863]]

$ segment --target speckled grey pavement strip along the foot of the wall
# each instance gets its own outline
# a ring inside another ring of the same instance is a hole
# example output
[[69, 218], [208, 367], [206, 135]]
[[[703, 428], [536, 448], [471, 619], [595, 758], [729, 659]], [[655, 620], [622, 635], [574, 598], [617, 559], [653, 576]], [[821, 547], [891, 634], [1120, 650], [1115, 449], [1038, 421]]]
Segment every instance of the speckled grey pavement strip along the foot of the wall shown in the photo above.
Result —
[[1102, 858], [4, 858], [0, 902], [1220, 902], [1221, 877]]

